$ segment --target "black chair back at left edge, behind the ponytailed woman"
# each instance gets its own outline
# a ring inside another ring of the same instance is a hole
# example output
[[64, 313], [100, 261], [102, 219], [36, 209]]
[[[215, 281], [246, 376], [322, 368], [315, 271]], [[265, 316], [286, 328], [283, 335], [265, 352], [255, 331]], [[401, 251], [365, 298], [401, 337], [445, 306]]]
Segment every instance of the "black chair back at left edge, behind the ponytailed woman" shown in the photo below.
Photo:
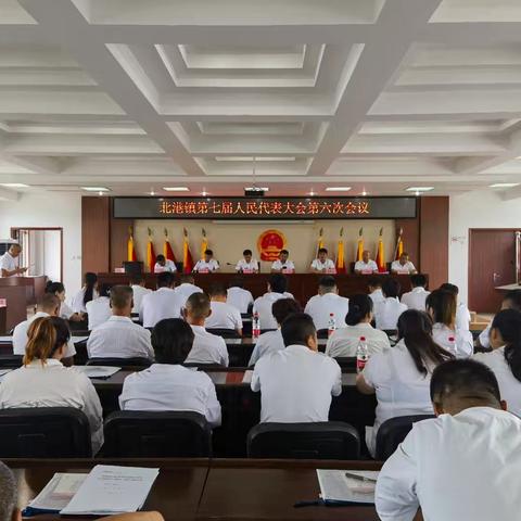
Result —
[[0, 458], [90, 458], [87, 417], [73, 407], [0, 410]]

